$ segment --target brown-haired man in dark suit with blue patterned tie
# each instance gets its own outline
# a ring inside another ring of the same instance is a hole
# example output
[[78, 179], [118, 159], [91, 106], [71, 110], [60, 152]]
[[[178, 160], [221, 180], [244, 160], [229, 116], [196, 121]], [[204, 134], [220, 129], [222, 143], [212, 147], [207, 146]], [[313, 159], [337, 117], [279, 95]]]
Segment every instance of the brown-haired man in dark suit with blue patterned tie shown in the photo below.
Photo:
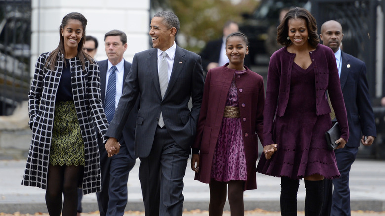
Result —
[[[123, 92], [124, 80], [131, 69], [131, 63], [123, 58], [124, 51], [127, 49], [127, 35], [120, 30], [111, 30], [104, 35], [104, 45], [108, 59], [99, 61], [100, 69], [100, 89], [104, 108], [108, 108], [109, 91], [113, 91], [112, 105], [113, 110], [117, 107], [120, 96]], [[114, 88], [108, 87], [115, 73], [116, 83]], [[113, 113], [106, 112], [107, 120], [112, 120]], [[116, 135], [120, 146], [120, 153], [115, 157], [108, 157], [104, 150], [104, 143], [99, 142], [100, 165], [102, 174], [102, 191], [97, 193], [99, 212], [101, 216], [123, 216], [127, 205], [127, 181], [130, 170], [135, 165], [135, 119], [138, 112], [137, 105], [129, 112], [127, 121], [123, 123], [123, 133]]]

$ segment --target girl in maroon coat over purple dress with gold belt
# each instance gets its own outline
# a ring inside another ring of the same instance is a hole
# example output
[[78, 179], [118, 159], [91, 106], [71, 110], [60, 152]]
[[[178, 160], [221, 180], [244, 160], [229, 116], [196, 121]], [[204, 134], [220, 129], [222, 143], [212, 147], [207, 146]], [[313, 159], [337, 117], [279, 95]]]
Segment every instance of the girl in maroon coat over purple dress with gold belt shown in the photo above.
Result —
[[195, 180], [210, 185], [210, 216], [222, 216], [227, 186], [233, 216], [244, 215], [243, 191], [257, 188], [257, 134], [261, 138], [265, 93], [263, 78], [243, 65], [246, 54], [247, 37], [230, 34], [229, 63], [206, 76], [191, 169]]

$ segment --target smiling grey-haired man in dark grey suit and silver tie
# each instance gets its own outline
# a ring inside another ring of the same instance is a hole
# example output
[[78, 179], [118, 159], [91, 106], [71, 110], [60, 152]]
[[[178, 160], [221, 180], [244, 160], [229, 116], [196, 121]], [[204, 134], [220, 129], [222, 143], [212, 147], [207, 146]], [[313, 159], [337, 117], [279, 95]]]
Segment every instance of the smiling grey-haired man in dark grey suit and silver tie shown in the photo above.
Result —
[[154, 15], [149, 32], [153, 49], [135, 54], [106, 134], [109, 156], [119, 155], [116, 138], [140, 94], [135, 155], [141, 161], [139, 180], [146, 216], [182, 215], [182, 180], [202, 103], [201, 58], [176, 45], [178, 31], [179, 19], [174, 13]]

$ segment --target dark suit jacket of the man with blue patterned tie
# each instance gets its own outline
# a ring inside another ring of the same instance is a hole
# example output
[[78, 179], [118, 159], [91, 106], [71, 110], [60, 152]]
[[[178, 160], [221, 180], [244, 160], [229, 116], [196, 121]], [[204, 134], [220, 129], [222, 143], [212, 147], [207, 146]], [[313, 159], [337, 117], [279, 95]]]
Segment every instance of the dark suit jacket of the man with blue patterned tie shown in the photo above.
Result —
[[[100, 89], [102, 95], [102, 101], [104, 104], [104, 99], [106, 98], [106, 79], [107, 79], [107, 67], [108, 60], [98, 61], [100, 69]], [[132, 64], [124, 60], [124, 79], [126, 79], [128, 73], [130, 72]], [[124, 81], [123, 81], [124, 87]], [[132, 158], [135, 158], [135, 125], [136, 125], [136, 116], [139, 109], [139, 100], [135, 104], [134, 108], [131, 110], [127, 122], [125, 123], [122, 135], [118, 138], [120, 144], [125, 144], [127, 146], [128, 152]], [[104, 149], [102, 149], [104, 150]]]

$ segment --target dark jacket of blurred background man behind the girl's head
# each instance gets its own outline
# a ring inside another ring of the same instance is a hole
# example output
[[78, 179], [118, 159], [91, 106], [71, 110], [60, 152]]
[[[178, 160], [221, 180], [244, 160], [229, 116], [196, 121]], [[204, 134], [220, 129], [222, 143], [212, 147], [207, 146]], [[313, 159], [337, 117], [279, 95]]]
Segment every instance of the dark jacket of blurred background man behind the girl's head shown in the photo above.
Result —
[[[204, 71], [207, 71], [207, 66], [210, 62], [218, 62], [219, 55], [221, 53], [222, 47], [222, 37], [218, 40], [208, 41], [206, 47], [200, 52], [200, 57], [202, 57], [202, 67]], [[250, 67], [249, 56], [246, 55], [244, 59], [244, 65]], [[222, 65], [219, 65], [222, 66]]]

